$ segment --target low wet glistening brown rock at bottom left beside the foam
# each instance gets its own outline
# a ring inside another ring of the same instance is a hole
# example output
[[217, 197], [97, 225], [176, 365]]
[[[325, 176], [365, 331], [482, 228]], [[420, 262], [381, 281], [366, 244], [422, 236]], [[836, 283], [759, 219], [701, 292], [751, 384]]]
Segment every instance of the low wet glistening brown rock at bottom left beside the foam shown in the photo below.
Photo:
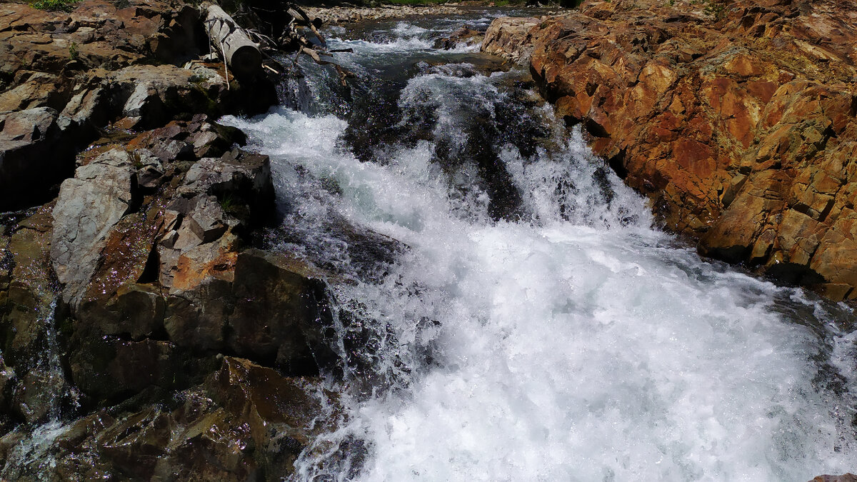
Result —
[[[99, 409], [65, 425], [51, 445], [51, 464], [41, 466], [39, 474], [58, 479], [288, 477], [312, 437], [332, 430], [338, 409], [317, 380], [283, 377], [232, 357], [224, 357], [203, 383], [170, 401], [153, 402], [158, 396], [149, 391], [123, 408]], [[13, 433], [0, 440], [0, 455], [23, 437]], [[38, 464], [21, 461], [2, 475], [21, 479]]]

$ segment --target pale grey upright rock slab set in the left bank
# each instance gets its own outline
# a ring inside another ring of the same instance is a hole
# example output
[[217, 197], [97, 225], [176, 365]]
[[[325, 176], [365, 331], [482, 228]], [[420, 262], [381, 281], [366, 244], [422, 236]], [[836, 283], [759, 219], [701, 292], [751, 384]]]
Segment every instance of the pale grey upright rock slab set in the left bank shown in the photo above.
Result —
[[79, 167], [75, 178], [60, 188], [53, 210], [51, 260], [67, 302], [80, 301], [112, 227], [131, 209], [132, 164], [127, 152], [113, 149]]

